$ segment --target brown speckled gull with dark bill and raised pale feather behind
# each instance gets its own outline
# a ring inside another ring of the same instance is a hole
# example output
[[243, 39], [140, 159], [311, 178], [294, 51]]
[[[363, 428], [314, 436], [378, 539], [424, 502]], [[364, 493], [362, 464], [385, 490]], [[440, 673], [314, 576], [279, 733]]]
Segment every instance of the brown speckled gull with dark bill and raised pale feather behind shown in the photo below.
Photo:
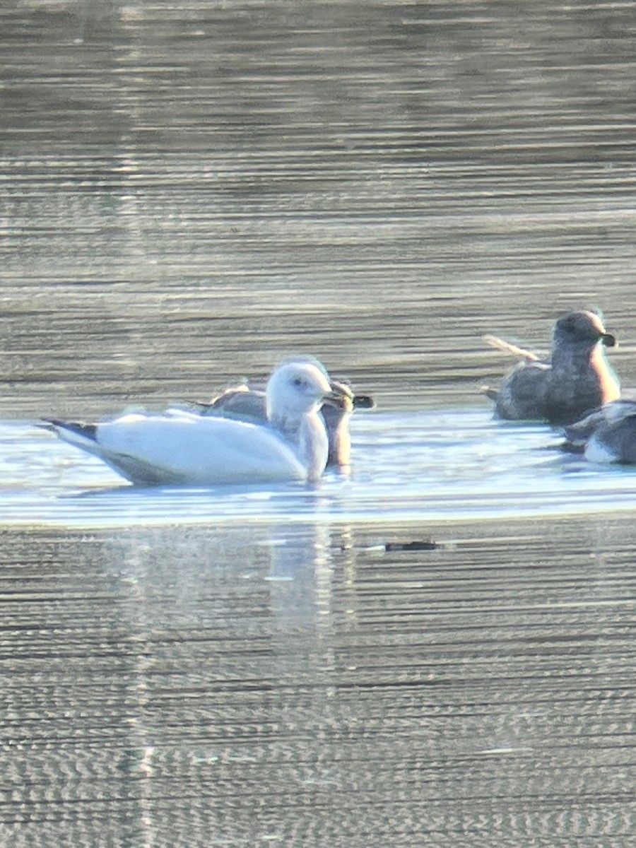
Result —
[[522, 358], [499, 389], [486, 388], [499, 418], [571, 424], [620, 396], [620, 384], [604, 350], [614, 347], [616, 339], [605, 332], [594, 312], [561, 315], [555, 323], [549, 361], [496, 336], [484, 338], [492, 347]]

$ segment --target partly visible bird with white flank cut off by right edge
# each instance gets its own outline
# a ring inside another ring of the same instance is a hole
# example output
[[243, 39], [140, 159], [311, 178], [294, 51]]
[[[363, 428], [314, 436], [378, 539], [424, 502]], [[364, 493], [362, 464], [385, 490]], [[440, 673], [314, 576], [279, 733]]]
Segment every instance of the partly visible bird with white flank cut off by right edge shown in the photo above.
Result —
[[636, 400], [614, 400], [564, 427], [564, 448], [590, 462], [636, 463]]

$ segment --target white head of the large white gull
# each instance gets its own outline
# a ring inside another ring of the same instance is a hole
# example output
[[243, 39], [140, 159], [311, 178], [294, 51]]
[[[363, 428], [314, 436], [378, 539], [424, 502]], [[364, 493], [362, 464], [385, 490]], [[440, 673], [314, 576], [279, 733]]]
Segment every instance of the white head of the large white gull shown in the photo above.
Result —
[[328, 377], [312, 362], [286, 362], [276, 368], [265, 389], [268, 419], [281, 427], [293, 426], [317, 411], [323, 401], [337, 398]]

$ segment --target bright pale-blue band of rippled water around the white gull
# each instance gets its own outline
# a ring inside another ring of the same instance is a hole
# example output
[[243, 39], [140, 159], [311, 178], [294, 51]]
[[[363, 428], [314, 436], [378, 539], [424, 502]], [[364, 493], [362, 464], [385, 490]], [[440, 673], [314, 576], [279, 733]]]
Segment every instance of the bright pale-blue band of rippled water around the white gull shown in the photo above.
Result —
[[351, 477], [316, 489], [136, 489], [29, 423], [0, 425], [2, 521], [72, 527], [374, 522], [630, 510], [636, 470], [561, 453], [558, 432], [500, 424], [489, 410], [355, 416]]

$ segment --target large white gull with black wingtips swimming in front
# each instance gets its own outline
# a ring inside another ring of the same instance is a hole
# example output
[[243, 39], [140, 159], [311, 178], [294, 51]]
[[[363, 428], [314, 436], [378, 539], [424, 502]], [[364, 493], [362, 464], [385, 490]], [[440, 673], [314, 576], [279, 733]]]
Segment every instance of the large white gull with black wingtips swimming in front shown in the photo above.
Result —
[[314, 483], [328, 453], [318, 410], [324, 400], [338, 399], [317, 365], [287, 362], [267, 382], [265, 423], [167, 410], [46, 426], [137, 485]]

